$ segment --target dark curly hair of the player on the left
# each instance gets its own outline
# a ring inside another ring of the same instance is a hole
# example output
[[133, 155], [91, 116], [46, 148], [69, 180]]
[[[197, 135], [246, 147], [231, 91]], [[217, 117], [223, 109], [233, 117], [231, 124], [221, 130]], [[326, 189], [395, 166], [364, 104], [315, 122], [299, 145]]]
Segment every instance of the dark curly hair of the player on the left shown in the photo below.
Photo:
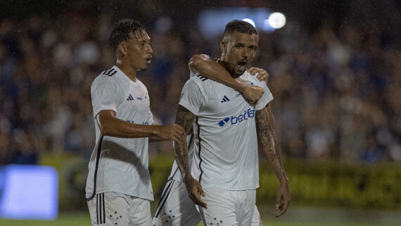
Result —
[[[139, 33], [138, 33], [139, 32]], [[138, 34], [143, 34], [146, 32], [145, 27], [140, 23], [136, 22], [132, 19], [122, 19], [118, 20], [115, 23], [113, 31], [110, 34], [108, 42], [115, 51], [117, 49], [118, 44], [122, 41], [126, 41], [128, 39], [132, 39], [131, 34], [134, 34], [134, 37], [139, 38]]]

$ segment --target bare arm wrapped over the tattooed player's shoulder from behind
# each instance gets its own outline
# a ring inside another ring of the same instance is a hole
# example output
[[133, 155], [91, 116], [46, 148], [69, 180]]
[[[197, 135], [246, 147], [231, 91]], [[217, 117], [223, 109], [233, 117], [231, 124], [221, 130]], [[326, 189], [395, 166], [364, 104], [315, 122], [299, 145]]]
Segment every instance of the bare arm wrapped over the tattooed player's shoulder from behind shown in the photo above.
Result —
[[[234, 79], [224, 66], [212, 60], [207, 55], [193, 55], [189, 60], [188, 66], [189, 70], [193, 73], [200, 73], [211, 80], [215, 80], [241, 92], [250, 102], [256, 103], [263, 95], [263, 89], [250, 86], [238, 78]], [[257, 70], [253, 70], [253, 72], [256, 73]]]

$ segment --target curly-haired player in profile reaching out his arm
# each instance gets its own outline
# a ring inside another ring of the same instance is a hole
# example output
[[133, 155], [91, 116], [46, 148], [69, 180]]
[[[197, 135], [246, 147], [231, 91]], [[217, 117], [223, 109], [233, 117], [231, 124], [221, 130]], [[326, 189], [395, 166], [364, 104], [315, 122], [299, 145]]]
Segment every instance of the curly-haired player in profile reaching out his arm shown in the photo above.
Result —
[[152, 125], [149, 95], [136, 78], [151, 63], [150, 38], [134, 20], [119, 20], [110, 34], [117, 61], [91, 85], [96, 146], [86, 197], [92, 225], [152, 225], [148, 142], [183, 137], [181, 126]]

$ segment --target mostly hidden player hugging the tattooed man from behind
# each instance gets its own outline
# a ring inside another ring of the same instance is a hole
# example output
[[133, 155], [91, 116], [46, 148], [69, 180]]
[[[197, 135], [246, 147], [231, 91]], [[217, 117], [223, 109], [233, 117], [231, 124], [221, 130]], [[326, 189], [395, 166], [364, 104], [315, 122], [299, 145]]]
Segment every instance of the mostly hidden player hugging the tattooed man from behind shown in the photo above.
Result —
[[[196, 68], [193, 68], [196, 66]], [[250, 86], [239, 78], [234, 79], [230, 73], [222, 65], [211, 59], [206, 55], [194, 55], [189, 61], [189, 69], [191, 76], [196, 73], [208, 77], [212, 80], [219, 81], [227, 86], [241, 92], [243, 96], [247, 96], [249, 102], [257, 102], [262, 97], [263, 89], [257, 86]], [[250, 68], [250, 75], [257, 75], [257, 79], [267, 80], [269, 76], [265, 70], [260, 68]], [[191, 162], [193, 155], [193, 134], [186, 137], [188, 144], [188, 156]], [[190, 166], [190, 165], [189, 165]], [[202, 219], [198, 211], [196, 211], [195, 204], [189, 199], [188, 192], [184, 182], [182, 182], [181, 172], [178, 170], [177, 162], [174, 161], [172, 171], [168, 177], [167, 184], [163, 190], [162, 197], [160, 198], [158, 208], [153, 218], [153, 225], [155, 226], [196, 226]], [[262, 225], [260, 214], [255, 206], [252, 219], [253, 226]]]

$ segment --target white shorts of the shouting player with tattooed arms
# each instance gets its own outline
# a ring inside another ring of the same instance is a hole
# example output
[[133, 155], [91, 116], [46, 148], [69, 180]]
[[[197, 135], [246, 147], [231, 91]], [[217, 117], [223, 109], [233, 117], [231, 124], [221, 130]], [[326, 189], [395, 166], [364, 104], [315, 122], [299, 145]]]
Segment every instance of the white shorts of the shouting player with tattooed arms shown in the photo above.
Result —
[[[250, 226], [255, 211], [256, 190], [229, 191], [203, 188], [208, 208], [198, 206], [205, 225]], [[259, 217], [260, 219], [260, 217]]]

